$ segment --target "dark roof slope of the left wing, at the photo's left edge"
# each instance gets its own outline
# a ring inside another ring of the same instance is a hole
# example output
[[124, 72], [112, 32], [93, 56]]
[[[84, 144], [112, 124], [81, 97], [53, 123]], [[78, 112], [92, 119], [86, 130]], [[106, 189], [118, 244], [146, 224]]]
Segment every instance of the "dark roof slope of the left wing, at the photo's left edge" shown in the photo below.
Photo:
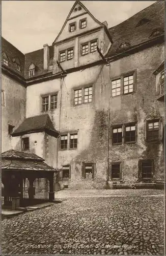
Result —
[[[16, 73], [24, 77], [25, 55], [20, 52], [15, 46], [10, 44], [10, 42], [7, 41], [4, 37], [2, 37], [1, 43], [2, 55], [5, 53], [8, 57], [8, 68], [14, 70]], [[17, 57], [20, 61], [20, 71], [15, 68], [15, 63], [13, 62], [13, 58], [15, 57]]]

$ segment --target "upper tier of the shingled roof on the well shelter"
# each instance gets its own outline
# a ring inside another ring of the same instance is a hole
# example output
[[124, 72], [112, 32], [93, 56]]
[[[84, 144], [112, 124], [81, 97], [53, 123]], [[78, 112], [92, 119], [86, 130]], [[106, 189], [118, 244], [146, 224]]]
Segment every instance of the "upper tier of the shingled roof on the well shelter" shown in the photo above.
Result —
[[27, 159], [27, 160], [44, 161], [43, 158], [35, 155], [34, 153], [16, 151], [16, 150], [9, 150], [2, 153], [2, 159]]

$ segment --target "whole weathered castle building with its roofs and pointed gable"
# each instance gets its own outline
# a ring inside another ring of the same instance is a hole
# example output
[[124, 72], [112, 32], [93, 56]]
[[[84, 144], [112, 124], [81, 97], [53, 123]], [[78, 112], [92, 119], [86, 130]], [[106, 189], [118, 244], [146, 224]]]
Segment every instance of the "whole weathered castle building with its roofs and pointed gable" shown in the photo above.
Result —
[[52, 46], [2, 43], [2, 152], [44, 158], [61, 187], [164, 181], [164, 2], [108, 28], [76, 1]]

